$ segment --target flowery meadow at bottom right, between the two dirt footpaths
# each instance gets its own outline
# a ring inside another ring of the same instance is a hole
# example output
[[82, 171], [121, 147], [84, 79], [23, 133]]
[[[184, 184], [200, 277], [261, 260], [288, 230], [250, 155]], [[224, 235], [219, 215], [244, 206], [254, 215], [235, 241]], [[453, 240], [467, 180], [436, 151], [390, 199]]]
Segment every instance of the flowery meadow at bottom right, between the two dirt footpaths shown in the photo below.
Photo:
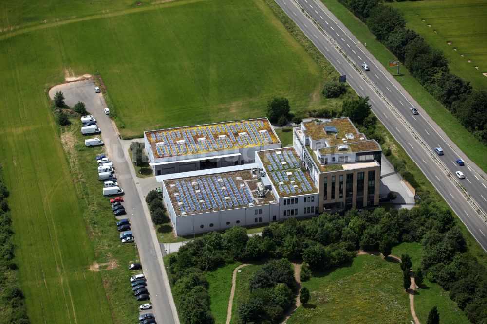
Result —
[[317, 273], [303, 283], [311, 293], [288, 324], [409, 323], [409, 297], [396, 262], [359, 255], [343, 267]]

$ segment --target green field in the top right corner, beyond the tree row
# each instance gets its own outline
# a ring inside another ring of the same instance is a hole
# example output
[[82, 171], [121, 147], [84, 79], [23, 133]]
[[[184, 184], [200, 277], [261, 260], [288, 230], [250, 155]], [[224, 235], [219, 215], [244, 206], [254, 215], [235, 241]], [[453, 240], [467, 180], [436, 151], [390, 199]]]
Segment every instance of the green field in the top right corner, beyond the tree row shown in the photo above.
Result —
[[485, 0], [404, 1], [389, 5], [403, 13], [407, 28], [443, 51], [452, 73], [470, 81], [474, 88], [487, 88], [487, 77], [482, 74], [487, 73]]

